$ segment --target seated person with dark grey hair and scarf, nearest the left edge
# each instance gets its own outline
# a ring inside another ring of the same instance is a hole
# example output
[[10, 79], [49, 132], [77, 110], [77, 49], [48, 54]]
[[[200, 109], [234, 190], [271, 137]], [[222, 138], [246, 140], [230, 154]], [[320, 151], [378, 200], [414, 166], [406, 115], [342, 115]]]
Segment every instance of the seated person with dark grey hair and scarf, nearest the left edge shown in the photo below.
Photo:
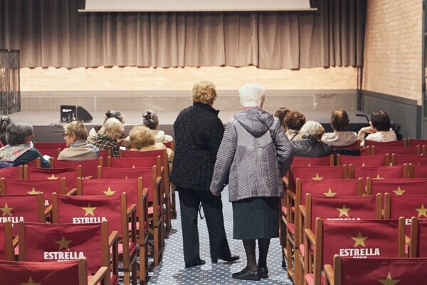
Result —
[[7, 145], [0, 148], [0, 167], [24, 165], [27, 162], [41, 158], [41, 167], [51, 167], [38, 150], [30, 147], [34, 131], [27, 123], [12, 122], [6, 128]]

